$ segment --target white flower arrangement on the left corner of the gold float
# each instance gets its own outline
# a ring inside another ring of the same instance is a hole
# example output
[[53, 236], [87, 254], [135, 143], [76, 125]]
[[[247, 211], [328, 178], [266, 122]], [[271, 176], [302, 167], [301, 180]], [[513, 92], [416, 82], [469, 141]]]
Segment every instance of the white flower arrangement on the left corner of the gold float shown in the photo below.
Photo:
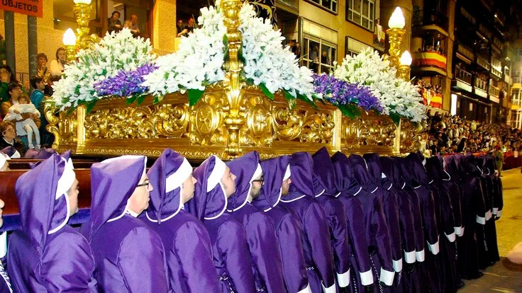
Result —
[[93, 49], [80, 50], [77, 60], [65, 65], [65, 77], [53, 86], [52, 101], [64, 110], [78, 105], [94, 106], [104, 98], [96, 92], [94, 84], [116, 76], [120, 71], [133, 71], [155, 59], [150, 40], [133, 38], [130, 30], [107, 33]]

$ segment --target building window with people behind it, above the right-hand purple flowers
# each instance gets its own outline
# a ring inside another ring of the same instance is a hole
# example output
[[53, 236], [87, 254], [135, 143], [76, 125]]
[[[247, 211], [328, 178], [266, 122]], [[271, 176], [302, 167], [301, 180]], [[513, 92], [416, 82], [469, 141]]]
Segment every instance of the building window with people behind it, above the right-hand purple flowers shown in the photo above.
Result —
[[317, 74], [329, 74], [333, 71], [333, 62], [337, 60], [337, 46], [305, 35], [303, 38], [303, 65]]

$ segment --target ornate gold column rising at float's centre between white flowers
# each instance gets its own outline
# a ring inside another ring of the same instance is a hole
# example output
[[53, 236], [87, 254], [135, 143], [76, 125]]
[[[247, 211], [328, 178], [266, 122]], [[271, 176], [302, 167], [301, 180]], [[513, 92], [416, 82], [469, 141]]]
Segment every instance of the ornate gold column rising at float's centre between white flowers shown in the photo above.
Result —
[[240, 115], [240, 104], [243, 100], [239, 72], [243, 68], [243, 62], [239, 59], [241, 48], [241, 33], [238, 30], [240, 25], [239, 11], [242, 2], [240, 0], [221, 1], [221, 10], [225, 16], [226, 37], [228, 41], [228, 57], [225, 59], [223, 69], [226, 71], [226, 81], [228, 88], [226, 96], [228, 100], [228, 115], [225, 117], [225, 125], [228, 129], [227, 144], [225, 149], [225, 159], [234, 158], [242, 153], [239, 145], [239, 130], [245, 125], [245, 117]]

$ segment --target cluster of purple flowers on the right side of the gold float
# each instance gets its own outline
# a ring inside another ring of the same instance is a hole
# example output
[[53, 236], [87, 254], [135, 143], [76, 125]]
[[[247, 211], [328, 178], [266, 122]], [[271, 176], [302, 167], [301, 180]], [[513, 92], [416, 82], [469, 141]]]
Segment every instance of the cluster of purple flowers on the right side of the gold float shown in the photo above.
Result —
[[377, 110], [382, 113], [379, 99], [368, 86], [349, 84], [328, 74], [313, 74], [313, 88], [333, 105], [355, 104], [364, 110]]

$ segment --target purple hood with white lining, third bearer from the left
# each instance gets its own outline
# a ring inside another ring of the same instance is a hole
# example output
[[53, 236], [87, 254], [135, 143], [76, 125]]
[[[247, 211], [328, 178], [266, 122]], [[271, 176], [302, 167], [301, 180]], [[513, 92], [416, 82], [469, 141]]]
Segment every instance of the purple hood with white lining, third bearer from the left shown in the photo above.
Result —
[[154, 190], [145, 216], [161, 224], [174, 217], [182, 208], [182, 185], [192, 174], [192, 167], [184, 156], [165, 149], [150, 167], [147, 175]]

